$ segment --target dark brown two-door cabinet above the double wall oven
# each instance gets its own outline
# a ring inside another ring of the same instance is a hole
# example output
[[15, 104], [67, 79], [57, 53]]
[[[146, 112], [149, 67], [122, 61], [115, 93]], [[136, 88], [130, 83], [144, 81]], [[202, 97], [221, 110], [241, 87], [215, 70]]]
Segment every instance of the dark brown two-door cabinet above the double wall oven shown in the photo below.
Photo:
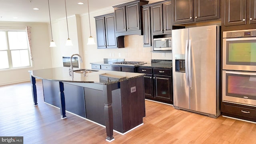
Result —
[[256, 0], [225, 0], [224, 6], [225, 26], [256, 24]]

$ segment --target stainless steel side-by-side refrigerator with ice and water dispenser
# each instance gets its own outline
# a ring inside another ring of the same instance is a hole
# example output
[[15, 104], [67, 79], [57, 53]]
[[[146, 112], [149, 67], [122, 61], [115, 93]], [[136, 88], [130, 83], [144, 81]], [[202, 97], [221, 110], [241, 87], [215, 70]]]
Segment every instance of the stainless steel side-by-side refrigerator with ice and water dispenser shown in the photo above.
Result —
[[220, 26], [172, 30], [174, 108], [220, 115]]

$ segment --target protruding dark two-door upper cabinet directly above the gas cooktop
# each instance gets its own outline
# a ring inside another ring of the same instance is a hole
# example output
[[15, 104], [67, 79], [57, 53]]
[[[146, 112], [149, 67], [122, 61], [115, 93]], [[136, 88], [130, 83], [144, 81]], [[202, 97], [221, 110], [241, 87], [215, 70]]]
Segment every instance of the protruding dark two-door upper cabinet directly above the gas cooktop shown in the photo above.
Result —
[[146, 0], [135, 0], [125, 4], [113, 6], [116, 24], [116, 36], [131, 34], [142, 35], [141, 10]]

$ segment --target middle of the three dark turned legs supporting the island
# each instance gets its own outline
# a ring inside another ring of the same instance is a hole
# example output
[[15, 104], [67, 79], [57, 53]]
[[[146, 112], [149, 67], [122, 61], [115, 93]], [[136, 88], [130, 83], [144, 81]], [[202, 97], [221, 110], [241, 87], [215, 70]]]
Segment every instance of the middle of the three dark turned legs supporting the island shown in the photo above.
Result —
[[60, 114], [61, 118], [67, 118], [66, 116], [66, 105], [65, 105], [65, 95], [64, 95], [64, 84], [63, 82], [60, 83], [60, 91], [59, 91], [59, 102], [60, 102]]

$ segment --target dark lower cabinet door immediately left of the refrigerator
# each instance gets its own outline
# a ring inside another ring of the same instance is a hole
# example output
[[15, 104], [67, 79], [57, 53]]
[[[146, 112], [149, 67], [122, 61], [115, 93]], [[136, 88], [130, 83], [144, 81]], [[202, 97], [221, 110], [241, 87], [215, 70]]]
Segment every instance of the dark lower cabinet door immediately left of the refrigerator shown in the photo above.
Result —
[[172, 76], [154, 75], [155, 98], [172, 101]]

